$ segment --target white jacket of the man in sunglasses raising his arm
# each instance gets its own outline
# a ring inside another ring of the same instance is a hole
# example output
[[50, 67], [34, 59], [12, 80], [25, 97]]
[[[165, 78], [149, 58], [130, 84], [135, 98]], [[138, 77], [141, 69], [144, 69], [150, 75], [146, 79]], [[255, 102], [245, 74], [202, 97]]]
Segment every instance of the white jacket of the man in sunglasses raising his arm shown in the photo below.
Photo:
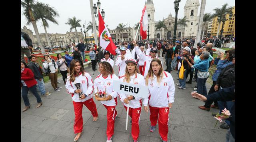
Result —
[[[139, 47], [134, 47], [134, 49], [135, 49], [135, 52], [136, 52], [136, 54], [138, 55], [138, 56], [140, 56], [140, 60], [143, 60], [144, 61], [144, 78], [146, 78], [146, 76], [147, 76], [147, 74], [148, 74], [148, 70], [149, 70], [149, 68], [150, 68], [150, 63], [151, 63], [151, 61], [153, 60], [153, 58], [151, 58], [151, 56], [150, 55], [145, 55], [145, 54], [143, 54], [141, 51], [140, 51], [140, 49], [139, 49]], [[158, 58], [157, 56], [156, 56], [156, 58]], [[161, 63], [162, 63], [162, 61], [161, 61]], [[163, 65], [163, 64], [162, 64]]]

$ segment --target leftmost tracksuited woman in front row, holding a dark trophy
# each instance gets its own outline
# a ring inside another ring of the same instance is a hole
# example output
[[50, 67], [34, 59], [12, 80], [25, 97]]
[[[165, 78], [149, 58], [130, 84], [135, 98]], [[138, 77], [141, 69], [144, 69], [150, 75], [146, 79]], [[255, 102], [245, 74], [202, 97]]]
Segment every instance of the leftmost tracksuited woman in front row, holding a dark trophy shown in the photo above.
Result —
[[81, 67], [79, 60], [72, 60], [70, 62], [70, 76], [67, 78], [65, 87], [68, 93], [72, 95], [75, 111], [74, 133], [76, 134], [74, 142], [77, 142], [83, 131], [83, 105], [92, 112], [93, 121], [98, 120], [96, 104], [92, 99], [92, 77], [84, 72], [84, 68]]

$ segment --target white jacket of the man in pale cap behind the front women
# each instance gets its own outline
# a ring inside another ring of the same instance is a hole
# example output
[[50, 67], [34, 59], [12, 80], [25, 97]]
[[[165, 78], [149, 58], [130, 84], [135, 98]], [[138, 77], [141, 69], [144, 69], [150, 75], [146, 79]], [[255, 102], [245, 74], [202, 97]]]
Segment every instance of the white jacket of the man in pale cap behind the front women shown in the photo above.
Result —
[[116, 66], [119, 66], [119, 70], [118, 70], [118, 76], [122, 76], [123, 74], [125, 74], [125, 69], [126, 69], [126, 60], [129, 60], [130, 58], [132, 58], [132, 54], [124, 54], [124, 60], [121, 59], [122, 55], [117, 56], [116, 58]]

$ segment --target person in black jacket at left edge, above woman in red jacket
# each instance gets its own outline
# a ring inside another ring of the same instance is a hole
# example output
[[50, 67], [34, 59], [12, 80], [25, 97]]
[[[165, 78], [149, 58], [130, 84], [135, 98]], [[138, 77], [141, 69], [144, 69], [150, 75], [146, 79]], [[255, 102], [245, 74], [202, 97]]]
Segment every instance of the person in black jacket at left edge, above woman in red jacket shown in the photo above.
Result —
[[[30, 56], [30, 49], [32, 49], [33, 45], [32, 45], [32, 40], [30, 39], [30, 37], [28, 36], [28, 34], [24, 33], [24, 32], [20, 32], [20, 60], [24, 60], [24, 54], [26, 54], [26, 56]], [[28, 60], [28, 62], [30, 62]]]

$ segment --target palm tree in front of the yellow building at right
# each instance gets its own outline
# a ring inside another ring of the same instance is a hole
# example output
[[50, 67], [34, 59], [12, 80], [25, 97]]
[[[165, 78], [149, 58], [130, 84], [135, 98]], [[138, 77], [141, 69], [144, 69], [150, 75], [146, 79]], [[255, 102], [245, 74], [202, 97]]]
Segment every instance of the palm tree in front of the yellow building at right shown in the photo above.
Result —
[[[226, 10], [227, 10], [228, 13], [232, 13], [232, 7], [228, 7], [228, 4], [227, 4], [227, 3], [224, 4], [224, 5], [222, 5], [221, 8], [215, 8], [215, 9], [214, 9], [215, 13], [212, 15], [211, 18], [215, 18], [215, 17], [220, 16], [220, 19], [222, 19], [223, 16], [224, 16], [224, 12], [225, 12]], [[218, 21], [218, 29], [217, 29], [217, 35], [216, 35], [216, 37], [218, 37], [218, 35], [219, 35], [220, 23], [221, 23], [221, 21]]]

